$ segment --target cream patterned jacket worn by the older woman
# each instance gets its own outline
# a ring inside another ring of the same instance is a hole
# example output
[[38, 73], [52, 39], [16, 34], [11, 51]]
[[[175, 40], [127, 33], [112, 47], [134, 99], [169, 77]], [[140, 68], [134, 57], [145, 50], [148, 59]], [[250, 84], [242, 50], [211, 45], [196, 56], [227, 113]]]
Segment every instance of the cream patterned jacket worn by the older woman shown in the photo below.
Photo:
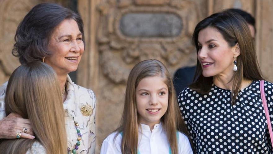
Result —
[[[5, 91], [7, 82], [0, 87], [0, 120], [5, 117]], [[67, 133], [67, 146], [72, 149], [77, 143], [77, 131], [74, 127], [74, 121], [78, 122], [78, 129], [82, 134], [82, 140], [76, 153], [93, 154], [95, 153], [95, 109], [96, 97], [92, 90], [76, 85], [67, 75], [66, 79], [67, 97], [64, 105], [65, 110], [65, 128]], [[91, 105], [93, 111], [90, 116], [84, 116], [81, 113], [83, 105]]]

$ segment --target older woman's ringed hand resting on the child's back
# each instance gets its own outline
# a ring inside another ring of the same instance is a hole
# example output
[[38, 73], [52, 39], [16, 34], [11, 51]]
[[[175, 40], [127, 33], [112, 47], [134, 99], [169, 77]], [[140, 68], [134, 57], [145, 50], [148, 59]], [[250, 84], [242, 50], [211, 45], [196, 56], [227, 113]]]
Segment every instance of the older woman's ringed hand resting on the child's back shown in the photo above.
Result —
[[[24, 127], [27, 128], [26, 133], [23, 133]], [[22, 132], [21, 138], [35, 138], [29, 119], [23, 119], [20, 115], [15, 113], [9, 114], [0, 121], [0, 130], [0, 138], [14, 139], [18, 132]]]

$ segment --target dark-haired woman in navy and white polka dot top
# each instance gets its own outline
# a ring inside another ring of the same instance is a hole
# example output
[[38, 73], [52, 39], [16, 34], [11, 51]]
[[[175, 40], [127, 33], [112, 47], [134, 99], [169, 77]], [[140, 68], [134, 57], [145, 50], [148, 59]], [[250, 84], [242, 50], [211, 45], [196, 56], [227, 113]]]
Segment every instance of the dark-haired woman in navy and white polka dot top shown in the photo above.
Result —
[[[237, 14], [216, 13], [198, 23], [193, 41], [195, 82], [181, 91], [178, 104], [196, 152], [273, 153], [247, 23]], [[265, 81], [264, 88], [272, 120], [273, 85]]]

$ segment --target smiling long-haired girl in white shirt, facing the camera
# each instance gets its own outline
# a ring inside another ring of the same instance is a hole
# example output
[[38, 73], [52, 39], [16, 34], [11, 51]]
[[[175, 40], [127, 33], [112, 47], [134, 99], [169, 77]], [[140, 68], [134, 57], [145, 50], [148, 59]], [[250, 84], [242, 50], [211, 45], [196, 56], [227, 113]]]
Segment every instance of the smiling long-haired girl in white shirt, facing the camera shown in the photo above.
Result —
[[102, 142], [101, 154], [191, 154], [172, 79], [158, 60], [130, 72], [121, 126]]

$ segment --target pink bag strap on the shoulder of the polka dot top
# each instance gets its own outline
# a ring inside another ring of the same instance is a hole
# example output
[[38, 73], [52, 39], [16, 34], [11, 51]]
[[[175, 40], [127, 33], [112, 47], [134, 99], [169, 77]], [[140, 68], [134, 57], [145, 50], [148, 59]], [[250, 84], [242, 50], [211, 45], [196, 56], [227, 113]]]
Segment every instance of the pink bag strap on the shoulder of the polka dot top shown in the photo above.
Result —
[[269, 111], [268, 111], [267, 103], [266, 103], [266, 96], [264, 93], [264, 80], [260, 81], [260, 91], [261, 91], [261, 97], [262, 97], [262, 105], [263, 105], [263, 108], [264, 108], [265, 114], [266, 114], [267, 127], [269, 130], [270, 140], [271, 140], [271, 144], [273, 147], [273, 132], [272, 132], [272, 127], [271, 127], [271, 120], [270, 120], [270, 116], [269, 116]]

